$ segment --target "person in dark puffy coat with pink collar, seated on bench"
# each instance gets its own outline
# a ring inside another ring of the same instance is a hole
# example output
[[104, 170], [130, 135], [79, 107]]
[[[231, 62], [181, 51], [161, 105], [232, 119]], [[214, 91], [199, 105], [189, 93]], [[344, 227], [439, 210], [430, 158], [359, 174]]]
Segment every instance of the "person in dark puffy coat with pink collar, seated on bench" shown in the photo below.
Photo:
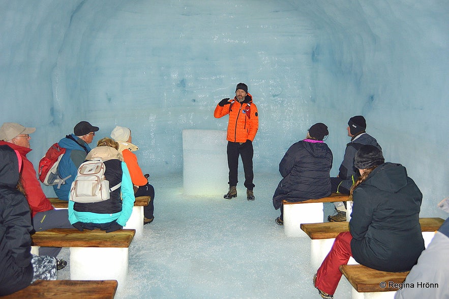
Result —
[[277, 224], [284, 223], [282, 200], [300, 202], [331, 195], [332, 151], [323, 142], [328, 134], [325, 124], [314, 124], [306, 139], [290, 146], [282, 158], [279, 172], [283, 179], [273, 195], [273, 206], [281, 209]]

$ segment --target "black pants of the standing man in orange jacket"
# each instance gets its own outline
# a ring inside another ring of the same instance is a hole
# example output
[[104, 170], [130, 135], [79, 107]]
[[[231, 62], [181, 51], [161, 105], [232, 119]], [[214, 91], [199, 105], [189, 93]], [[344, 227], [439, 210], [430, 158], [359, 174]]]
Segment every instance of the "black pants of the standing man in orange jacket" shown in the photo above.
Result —
[[236, 186], [237, 179], [237, 169], [238, 169], [238, 156], [242, 157], [243, 170], [245, 171], [245, 187], [252, 190], [254, 188], [253, 179], [253, 143], [249, 140], [247, 142], [240, 144], [238, 142], [228, 141], [228, 146], [226, 149], [228, 154], [228, 167], [229, 167], [229, 182], [230, 186]]

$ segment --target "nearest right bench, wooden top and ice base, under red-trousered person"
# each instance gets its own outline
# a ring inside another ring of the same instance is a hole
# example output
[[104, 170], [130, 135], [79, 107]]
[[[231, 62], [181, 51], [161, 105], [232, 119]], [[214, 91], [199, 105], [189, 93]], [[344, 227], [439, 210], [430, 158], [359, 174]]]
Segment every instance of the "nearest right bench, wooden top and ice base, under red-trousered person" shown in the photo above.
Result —
[[379, 271], [364, 265], [341, 265], [340, 272], [353, 286], [353, 299], [393, 298], [409, 273]]

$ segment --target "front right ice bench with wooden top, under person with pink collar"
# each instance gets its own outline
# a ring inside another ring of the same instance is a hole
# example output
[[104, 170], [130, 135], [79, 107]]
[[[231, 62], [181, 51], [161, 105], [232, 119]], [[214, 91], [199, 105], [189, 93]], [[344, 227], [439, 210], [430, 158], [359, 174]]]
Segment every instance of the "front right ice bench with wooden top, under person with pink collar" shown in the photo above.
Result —
[[349, 221], [351, 214], [351, 204], [349, 202], [349, 195], [333, 193], [330, 196], [320, 199], [309, 199], [300, 202], [289, 202], [283, 200], [284, 206], [284, 233], [287, 237], [299, 237], [304, 235], [301, 231], [302, 223], [319, 223], [323, 222], [323, 203], [324, 202], [338, 202], [346, 201], [346, 215]]

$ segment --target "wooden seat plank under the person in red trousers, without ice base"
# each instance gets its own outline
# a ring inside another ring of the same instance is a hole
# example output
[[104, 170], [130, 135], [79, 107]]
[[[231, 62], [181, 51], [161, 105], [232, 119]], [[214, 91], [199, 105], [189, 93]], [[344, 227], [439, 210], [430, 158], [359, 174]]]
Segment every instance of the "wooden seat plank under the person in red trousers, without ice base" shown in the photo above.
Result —
[[[385, 272], [369, 268], [364, 265], [341, 265], [340, 272], [346, 277], [349, 283], [357, 292], [387, 292], [397, 291], [394, 284], [403, 283], [409, 271], [406, 272]], [[380, 287], [384, 282], [385, 287]]]

